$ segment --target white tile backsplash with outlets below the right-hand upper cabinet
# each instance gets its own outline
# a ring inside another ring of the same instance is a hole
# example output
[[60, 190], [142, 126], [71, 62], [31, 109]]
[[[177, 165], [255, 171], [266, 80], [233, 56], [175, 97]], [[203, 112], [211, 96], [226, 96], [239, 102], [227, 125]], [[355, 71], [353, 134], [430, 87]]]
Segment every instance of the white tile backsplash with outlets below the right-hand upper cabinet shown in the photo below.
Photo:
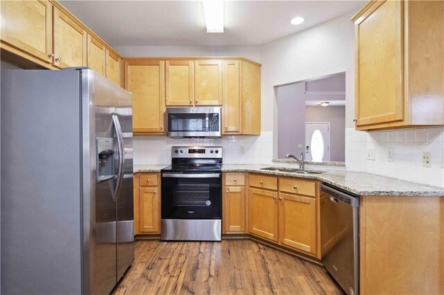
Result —
[[[387, 161], [393, 147], [395, 161]], [[375, 160], [367, 149], [375, 149]], [[348, 170], [375, 173], [444, 188], [444, 128], [362, 132], [345, 129], [345, 165]], [[422, 152], [431, 152], [432, 167], [422, 167]]]

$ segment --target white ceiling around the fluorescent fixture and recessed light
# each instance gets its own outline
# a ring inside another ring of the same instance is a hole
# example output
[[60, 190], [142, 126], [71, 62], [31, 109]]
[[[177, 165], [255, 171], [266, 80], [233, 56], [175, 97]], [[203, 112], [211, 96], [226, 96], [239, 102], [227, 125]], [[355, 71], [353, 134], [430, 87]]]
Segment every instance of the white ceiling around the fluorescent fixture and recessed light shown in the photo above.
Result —
[[[225, 33], [206, 33], [201, 1], [60, 1], [112, 46], [257, 46], [356, 12], [365, 1], [225, 1]], [[305, 17], [299, 26], [289, 23]]]

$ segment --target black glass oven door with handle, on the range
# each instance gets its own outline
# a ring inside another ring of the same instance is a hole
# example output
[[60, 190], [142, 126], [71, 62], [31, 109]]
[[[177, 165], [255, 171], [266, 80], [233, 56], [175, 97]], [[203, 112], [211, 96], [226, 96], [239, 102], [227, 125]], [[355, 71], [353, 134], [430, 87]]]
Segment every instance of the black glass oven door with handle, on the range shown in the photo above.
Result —
[[221, 216], [221, 173], [162, 173], [162, 220]]

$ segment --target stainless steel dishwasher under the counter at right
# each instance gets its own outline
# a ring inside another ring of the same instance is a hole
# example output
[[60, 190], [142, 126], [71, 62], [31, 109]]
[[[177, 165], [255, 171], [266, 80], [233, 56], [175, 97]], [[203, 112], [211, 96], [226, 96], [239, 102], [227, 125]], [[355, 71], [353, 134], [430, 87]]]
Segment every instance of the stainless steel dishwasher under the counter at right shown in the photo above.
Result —
[[342, 289], [359, 294], [359, 197], [321, 185], [322, 263]]

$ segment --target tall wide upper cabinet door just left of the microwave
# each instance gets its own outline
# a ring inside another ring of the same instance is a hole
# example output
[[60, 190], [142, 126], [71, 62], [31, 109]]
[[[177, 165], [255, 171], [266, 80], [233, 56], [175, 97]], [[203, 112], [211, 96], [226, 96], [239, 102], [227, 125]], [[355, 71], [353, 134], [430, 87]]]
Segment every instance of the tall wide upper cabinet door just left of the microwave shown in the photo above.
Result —
[[165, 111], [164, 62], [129, 60], [125, 88], [133, 93], [133, 132], [163, 134]]

